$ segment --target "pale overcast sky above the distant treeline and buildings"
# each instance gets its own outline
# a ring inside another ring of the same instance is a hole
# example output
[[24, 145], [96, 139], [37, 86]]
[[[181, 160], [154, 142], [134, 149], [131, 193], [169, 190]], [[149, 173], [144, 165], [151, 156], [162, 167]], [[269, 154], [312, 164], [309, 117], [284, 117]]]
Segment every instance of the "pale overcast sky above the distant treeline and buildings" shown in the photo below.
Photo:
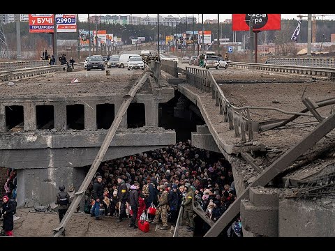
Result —
[[[90, 15], [95, 15], [95, 14], [90, 14]], [[97, 15], [106, 15], [106, 14], [97, 14]], [[146, 17], [149, 15], [149, 17], [157, 17], [157, 14], [109, 14], [109, 15], [133, 15], [134, 17]], [[160, 14], [163, 17], [167, 17], [168, 15], [172, 15], [174, 17], [185, 17], [186, 14]], [[202, 22], [202, 14], [187, 14], [188, 17], [191, 17], [194, 15], [194, 17], [198, 20], [198, 22]], [[296, 19], [298, 20], [299, 18], [297, 17], [299, 14], [281, 14], [282, 19]], [[301, 15], [306, 15], [306, 14], [301, 14]], [[199, 18], [198, 18], [199, 17]], [[219, 18], [221, 21], [226, 20], [226, 19], [231, 19], [232, 14], [219, 14]], [[329, 17], [330, 18], [330, 17]], [[87, 20], [87, 14], [79, 14], [79, 19], [80, 21], [86, 21]], [[216, 20], [218, 19], [218, 14], [204, 14], [204, 20]], [[306, 17], [304, 17], [306, 19]]]

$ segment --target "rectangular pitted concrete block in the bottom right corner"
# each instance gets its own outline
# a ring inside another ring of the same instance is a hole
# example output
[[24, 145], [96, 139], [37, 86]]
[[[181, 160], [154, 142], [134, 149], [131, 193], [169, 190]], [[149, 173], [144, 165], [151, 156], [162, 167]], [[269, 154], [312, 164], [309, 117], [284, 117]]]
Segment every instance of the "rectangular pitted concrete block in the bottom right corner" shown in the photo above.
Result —
[[335, 206], [332, 200], [281, 199], [279, 237], [334, 237]]

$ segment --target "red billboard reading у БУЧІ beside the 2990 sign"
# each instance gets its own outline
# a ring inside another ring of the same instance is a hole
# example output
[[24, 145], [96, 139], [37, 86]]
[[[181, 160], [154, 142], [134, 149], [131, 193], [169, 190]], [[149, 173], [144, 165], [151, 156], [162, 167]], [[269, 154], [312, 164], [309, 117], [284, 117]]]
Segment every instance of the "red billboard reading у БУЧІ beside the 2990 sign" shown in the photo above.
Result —
[[54, 33], [53, 14], [29, 14], [29, 33]]

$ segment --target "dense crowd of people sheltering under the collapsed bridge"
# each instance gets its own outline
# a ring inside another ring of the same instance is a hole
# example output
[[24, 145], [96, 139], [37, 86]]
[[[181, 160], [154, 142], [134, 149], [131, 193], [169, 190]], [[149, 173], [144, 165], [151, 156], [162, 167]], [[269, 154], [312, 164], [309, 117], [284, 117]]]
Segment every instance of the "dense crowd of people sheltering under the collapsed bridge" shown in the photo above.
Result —
[[[188, 140], [103, 162], [85, 196], [85, 212], [96, 220], [102, 215], [116, 217], [117, 222], [131, 218], [133, 228], [145, 218], [167, 230], [169, 222], [176, 225], [184, 207], [181, 225], [194, 231], [193, 200], [216, 222], [236, 199], [236, 192], [230, 163], [223, 155], [197, 149]], [[239, 218], [228, 230], [230, 237], [241, 236]]]

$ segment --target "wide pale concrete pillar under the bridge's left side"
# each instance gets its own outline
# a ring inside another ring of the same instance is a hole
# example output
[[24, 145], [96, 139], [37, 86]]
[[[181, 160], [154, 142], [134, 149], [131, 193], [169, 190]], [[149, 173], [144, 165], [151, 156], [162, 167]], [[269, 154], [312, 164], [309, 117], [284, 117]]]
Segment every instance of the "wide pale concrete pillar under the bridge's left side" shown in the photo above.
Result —
[[66, 192], [72, 187], [77, 191], [84, 177], [80, 167], [17, 169], [17, 206], [52, 204], [59, 185], [65, 185]]

